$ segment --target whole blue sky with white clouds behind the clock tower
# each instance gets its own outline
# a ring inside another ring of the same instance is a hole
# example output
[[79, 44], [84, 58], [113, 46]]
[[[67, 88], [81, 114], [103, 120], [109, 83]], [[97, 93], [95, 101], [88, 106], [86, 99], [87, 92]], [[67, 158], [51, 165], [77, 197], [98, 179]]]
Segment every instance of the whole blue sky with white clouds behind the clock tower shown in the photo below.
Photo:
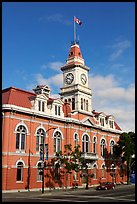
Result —
[[135, 132], [134, 2], [2, 2], [2, 89], [47, 84], [59, 97], [74, 16], [82, 21], [76, 36], [90, 67], [92, 109]]

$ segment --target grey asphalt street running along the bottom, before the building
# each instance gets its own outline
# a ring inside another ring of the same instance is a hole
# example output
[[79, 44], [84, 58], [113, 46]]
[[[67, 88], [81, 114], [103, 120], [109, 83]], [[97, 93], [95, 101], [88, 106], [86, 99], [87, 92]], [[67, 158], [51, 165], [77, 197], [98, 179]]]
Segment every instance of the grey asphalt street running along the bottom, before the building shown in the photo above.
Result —
[[116, 186], [114, 190], [3, 193], [2, 202], [135, 202], [135, 185]]

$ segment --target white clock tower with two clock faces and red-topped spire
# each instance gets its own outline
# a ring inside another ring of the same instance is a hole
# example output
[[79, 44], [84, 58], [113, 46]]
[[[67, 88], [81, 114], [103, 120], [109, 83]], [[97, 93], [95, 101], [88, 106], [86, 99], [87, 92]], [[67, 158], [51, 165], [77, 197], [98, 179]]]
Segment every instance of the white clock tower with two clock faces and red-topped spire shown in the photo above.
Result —
[[88, 87], [88, 72], [79, 45], [71, 45], [66, 64], [61, 67], [63, 72], [63, 87], [60, 96], [64, 102], [69, 102], [72, 112], [91, 114], [91, 89]]

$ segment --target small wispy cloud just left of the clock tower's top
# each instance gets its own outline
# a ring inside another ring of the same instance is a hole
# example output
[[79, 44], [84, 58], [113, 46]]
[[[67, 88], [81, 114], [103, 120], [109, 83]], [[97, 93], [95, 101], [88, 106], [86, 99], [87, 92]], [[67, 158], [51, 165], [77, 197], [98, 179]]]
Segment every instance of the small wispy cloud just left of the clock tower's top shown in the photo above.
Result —
[[64, 65], [63, 62], [56, 61], [56, 62], [50, 62], [48, 64], [43, 64], [41, 66], [42, 69], [53, 69], [56, 71], [60, 71], [60, 68]]

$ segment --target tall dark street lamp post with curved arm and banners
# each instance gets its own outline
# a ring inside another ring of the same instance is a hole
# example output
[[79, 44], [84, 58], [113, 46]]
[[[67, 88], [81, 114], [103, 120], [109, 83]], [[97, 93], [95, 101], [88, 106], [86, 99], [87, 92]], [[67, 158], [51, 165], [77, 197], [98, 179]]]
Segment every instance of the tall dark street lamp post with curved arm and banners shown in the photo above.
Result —
[[[46, 133], [51, 130], [51, 129], [56, 129], [56, 128], [49, 128]], [[45, 144], [45, 135], [43, 135], [43, 141], [42, 141], [42, 193], [44, 193], [44, 168], [45, 168], [45, 165], [44, 165], [44, 162], [45, 162], [45, 159], [44, 159], [44, 149], [45, 149], [45, 146], [46, 146], [46, 160], [48, 160], [48, 144]]]

